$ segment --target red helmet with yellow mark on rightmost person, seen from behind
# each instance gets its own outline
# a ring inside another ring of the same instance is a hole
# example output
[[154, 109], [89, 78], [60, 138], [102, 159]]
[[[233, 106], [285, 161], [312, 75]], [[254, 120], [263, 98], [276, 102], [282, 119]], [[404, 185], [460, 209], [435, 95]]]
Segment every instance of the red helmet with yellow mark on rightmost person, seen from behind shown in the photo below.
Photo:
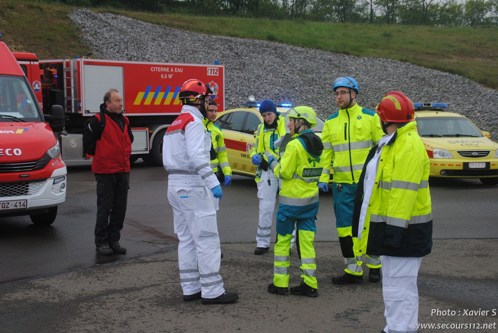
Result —
[[415, 117], [413, 103], [398, 91], [385, 94], [376, 109], [380, 119], [384, 121], [407, 122], [414, 120]]

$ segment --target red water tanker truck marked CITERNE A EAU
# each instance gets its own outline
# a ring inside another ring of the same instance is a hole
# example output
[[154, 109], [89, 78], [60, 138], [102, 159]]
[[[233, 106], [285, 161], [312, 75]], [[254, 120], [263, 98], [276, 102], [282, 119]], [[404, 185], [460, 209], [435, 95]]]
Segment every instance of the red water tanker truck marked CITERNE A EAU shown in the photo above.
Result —
[[[14, 53], [20, 64], [25, 54]], [[67, 165], [84, 161], [83, 132], [89, 117], [100, 111], [110, 88], [124, 99], [124, 114], [133, 131], [130, 161], [142, 158], [147, 164], [162, 165], [162, 138], [181, 111], [179, 90], [188, 79], [199, 79], [216, 90], [218, 109], [224, 108], [224, 66], [140, 61], [99, 60], [88, 57], [37, 60], [39, 67], [27, 77], [43, 110], [62, 105], [65, 131], [61, 133], [62, 157]]]

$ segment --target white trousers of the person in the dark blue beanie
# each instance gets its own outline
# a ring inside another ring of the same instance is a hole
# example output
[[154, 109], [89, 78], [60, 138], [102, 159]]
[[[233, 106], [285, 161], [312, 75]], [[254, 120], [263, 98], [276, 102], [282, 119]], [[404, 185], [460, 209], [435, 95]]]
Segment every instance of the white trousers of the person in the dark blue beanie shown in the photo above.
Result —
[[[268, 179], [270, 184], [268, 184]], [[257, 224], [256, 243], [257, 247], [270, 246], [271, 222], [275, 212], [275, 201], [282, 181], [275, 177], [273, 171], [261, 170], [261, 179], [257, 183], [257, 197], [259, 199], [259, 220]], [[296, 230], [292, 232], [290, 248], [294, 246], [296, 240]]]

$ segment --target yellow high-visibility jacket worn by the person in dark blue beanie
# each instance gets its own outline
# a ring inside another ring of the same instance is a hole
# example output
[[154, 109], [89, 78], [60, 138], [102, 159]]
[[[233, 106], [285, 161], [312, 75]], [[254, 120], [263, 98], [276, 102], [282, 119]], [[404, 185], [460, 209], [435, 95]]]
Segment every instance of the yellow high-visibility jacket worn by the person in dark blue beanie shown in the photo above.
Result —
[[[264, 159], [268, 162], [268, 158], [273, 156], [277, 161], [280, 159], [280, 150], [273, 146], [273, 143], [278, 140], [282, 135], [285, 135], [285, 118], [280, 116], [280, 112], [277, 112], [279, 116], [276, 128], [266, 128], [264, 122], [257, 127], [257, 134], [254, 138], [254, 142], [249, 151], [249, 157], [258, 154], [261, 156], [261, 160]], [[261, 178], [261, 169], [256, 166], [255, 181], [259, 182]]]

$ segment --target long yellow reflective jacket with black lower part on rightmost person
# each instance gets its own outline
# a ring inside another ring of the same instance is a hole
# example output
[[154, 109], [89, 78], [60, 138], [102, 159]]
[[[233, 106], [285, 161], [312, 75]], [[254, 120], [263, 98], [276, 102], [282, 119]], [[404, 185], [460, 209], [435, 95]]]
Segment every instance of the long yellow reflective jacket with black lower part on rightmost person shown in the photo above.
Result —
[[[367, 244], [370, 255], [420, 257], [431, 252], [429, 157], [415, 127], [416, 122], [411, 121], [398, 128], [380, 153], [365, 219], [366, 225], [370, 222]], [[372, 159], [375, 148], [365, 165]], [[355, 237], [358, 236], [365, 169], [355, 198], [352, 230]]]

